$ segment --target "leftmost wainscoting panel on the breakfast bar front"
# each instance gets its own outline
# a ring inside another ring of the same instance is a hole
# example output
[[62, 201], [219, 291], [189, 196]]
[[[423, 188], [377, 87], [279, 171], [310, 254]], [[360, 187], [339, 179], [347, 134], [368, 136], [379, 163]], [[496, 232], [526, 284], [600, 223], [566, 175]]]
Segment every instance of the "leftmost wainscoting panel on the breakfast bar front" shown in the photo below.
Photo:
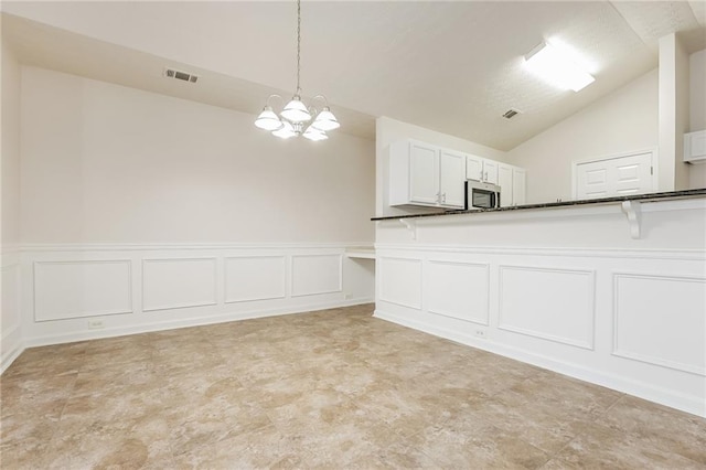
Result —
[[379, 299], [413, 309], [421, 309], [421, 260], [381, 257]]

